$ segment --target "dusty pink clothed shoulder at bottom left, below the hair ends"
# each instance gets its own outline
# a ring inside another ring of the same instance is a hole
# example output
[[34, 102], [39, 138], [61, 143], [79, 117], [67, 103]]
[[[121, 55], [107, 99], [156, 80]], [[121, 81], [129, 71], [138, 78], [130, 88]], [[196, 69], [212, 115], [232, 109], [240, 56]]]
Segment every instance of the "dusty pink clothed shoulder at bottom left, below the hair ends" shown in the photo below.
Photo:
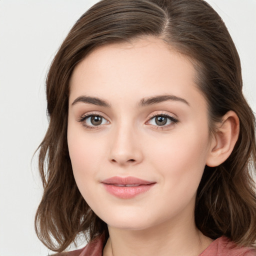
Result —
[[102, 251], [103, 239], [101, 236], [98, 236], [81, 249], [60, 252], [51, 256], [102, 256]]

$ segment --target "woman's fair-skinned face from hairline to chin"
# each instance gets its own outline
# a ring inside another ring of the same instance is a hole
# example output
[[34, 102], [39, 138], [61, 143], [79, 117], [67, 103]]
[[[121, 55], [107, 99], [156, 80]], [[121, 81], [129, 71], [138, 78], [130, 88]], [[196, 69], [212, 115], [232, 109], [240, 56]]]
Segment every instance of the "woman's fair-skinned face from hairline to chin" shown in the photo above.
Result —
[[193, 221], [212, 148], [192, 63], [160, 39], [92, 51], [70, 81], [67, 141], [77, 186], [109, 226]]

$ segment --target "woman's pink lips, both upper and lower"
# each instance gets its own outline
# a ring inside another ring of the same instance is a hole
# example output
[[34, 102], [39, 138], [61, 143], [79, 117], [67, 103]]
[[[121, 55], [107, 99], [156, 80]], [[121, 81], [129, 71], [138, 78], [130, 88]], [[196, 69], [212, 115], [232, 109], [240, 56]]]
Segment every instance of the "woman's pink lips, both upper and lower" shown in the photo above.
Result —
[[148, 191], [155, 182], [136, 177], [111, 177], [101, 181], [105, 189], [119, 198], [132, 198], [140, 193]]

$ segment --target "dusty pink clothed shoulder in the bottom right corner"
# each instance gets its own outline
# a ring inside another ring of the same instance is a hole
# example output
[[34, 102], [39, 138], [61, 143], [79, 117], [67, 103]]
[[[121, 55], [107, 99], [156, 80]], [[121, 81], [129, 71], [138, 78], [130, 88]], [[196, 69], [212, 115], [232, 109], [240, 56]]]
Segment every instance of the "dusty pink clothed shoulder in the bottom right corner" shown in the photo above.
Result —
[[221, 236], [214, 240], [199, 256], [256, 256], [256, 250], [238, 247], [227, 237]]

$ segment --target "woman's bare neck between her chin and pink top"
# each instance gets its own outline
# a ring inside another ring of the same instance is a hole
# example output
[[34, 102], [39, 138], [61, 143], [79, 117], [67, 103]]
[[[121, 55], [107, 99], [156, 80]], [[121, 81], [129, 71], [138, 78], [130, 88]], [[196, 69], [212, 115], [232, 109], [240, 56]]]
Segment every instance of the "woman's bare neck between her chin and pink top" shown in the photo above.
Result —
[[187, 219], [180, 223], [162, 222], [143, 230], [118, 229], [108, 226], [109, 238], [103, 256], [175, 255], [198, 256], [212, 240], [204, 236]]

